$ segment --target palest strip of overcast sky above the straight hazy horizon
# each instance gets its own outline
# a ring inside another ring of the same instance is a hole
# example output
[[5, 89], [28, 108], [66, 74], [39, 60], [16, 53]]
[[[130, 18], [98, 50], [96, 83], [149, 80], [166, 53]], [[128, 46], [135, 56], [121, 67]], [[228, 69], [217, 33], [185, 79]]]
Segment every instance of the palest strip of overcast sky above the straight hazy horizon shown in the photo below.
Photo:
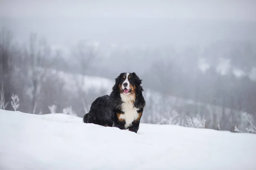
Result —
[[0, 0], [0, 17], [256, 20], [256, 0]]

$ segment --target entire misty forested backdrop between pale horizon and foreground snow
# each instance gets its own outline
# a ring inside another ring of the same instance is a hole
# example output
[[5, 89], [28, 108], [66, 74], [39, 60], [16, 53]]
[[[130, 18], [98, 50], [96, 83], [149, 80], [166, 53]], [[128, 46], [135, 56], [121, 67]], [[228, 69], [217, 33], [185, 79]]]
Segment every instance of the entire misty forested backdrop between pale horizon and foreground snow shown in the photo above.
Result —
[[[40, 24], [22, 32], [25, 26], [3, 22], [0, 109], [82, 117], [97, 97], [110, 94], [121, 72], [136, 72], [145, 90], [141, 122], [256, 133], [255, 23], [196, 27], [172, 20], [138, 21], [144, 25], [122, 20], [123, 28], [137, 26], [122, 29], [123, 35], [111, 20], [104, 22], [112, 27], [81, 22], [83, 27], [73, 31], [61, 21], [54, 29], [44, 28], [69, 34], [65, 40], [51, 36], [54, 32], [45, 36]], [[96, 41], [92, 30], [110, 33]], [[113, 34], [119, 43], [113, 43]], [[69, 43], [58, 43], [64, 41]]]

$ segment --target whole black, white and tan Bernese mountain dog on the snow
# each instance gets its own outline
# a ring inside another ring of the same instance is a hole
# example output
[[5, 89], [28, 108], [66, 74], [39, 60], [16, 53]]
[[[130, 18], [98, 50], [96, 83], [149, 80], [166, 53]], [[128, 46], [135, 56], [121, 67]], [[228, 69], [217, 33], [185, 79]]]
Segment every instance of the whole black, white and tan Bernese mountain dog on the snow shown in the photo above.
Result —
[[84, 115], [84, 123], [128, 129], [137, 133], [145, 107], [142, 79], [135, 73], [121, 73], [110, 95], [98, 97]]

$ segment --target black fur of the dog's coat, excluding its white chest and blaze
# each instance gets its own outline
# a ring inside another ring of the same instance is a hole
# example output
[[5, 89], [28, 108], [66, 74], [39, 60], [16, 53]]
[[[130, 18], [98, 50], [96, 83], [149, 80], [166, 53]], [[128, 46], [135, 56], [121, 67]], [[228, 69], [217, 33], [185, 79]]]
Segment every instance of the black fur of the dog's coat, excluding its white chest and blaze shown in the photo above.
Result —
[[91, 105], [89, 113], [84, 115], [84, 123], [93, 123], [102, 126], [118, 127], [120, 129], [129, 129], [137, 133], [140, 124], [140, 117], [145, 107], [145, 99], [143, 97], [143, 88], [141, 86], [142, 79], [140, 79], [135, 73], [129, 74], [129, 83], [132, 87], [135, 87], [133, 91], [135, 100], [133, 105], [137, 108], [137, 114], [140, 113], [140, 117], [134, 120], [129, 127], [125, 128], [125, 120], [118, 119], [118, 114], [124, 114], [122, 111], [122, 99], [120, 94], [122, 89], [119, 85], [125, 81], [124, 76], [126, 73], [121, 73], [115, 79], [115, 85], [112, 88], [110, 95], [98, 97]]

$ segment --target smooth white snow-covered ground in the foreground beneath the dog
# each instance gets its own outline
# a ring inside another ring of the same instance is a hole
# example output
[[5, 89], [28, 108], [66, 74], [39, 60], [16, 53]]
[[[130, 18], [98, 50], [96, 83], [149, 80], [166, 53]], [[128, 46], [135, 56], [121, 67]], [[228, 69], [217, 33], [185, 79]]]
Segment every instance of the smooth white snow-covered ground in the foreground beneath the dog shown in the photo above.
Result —
[[0, 110], [0, 170], [255, 170], [256, 135]]

